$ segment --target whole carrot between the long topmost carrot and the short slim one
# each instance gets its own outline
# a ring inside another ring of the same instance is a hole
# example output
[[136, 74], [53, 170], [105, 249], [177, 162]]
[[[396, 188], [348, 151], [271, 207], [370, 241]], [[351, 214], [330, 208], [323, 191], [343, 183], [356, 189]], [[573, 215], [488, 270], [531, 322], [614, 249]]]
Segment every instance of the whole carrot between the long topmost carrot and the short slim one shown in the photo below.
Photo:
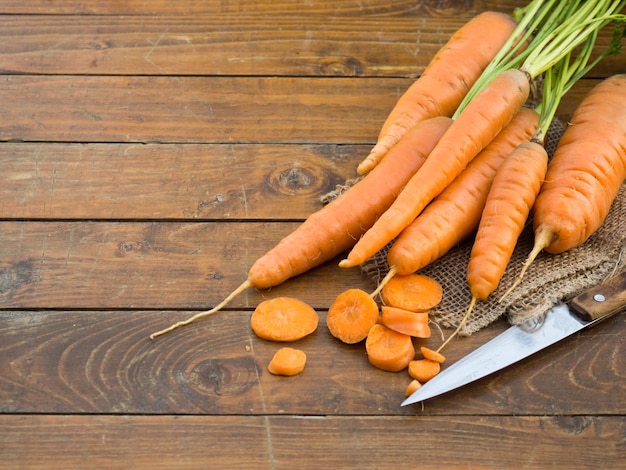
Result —
[[387, 253], [398, 274], [414, 273], [478, 227], [491, 182], [506, 156], [535, 133], [539, 115], [522, 108], [498, 136], [396, 238]]

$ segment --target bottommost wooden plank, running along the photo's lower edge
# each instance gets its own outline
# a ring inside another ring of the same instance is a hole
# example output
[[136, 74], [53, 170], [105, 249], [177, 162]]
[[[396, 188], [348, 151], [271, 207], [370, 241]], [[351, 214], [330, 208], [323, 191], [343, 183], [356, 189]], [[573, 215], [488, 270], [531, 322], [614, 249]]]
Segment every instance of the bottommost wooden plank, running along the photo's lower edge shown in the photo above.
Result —
[[[620, 468], [603, 417], [0, 417], [7, 469]], [[513, 457], [514, 456], [514, 457]], [[512, 465], [514, 460], [514, 465]]]

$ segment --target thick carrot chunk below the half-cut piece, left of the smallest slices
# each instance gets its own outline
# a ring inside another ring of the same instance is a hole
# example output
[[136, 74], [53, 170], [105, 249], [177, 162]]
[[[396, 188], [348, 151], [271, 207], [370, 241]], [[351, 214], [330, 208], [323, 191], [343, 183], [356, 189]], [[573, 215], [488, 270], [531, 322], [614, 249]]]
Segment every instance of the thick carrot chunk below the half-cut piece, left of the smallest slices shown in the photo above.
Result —
[[415, 347], [409, 335], [398, 333], [377, 323], [365, 340], [370, 363], [379, 369], [398, 372], [405, 369], [415, 357]]

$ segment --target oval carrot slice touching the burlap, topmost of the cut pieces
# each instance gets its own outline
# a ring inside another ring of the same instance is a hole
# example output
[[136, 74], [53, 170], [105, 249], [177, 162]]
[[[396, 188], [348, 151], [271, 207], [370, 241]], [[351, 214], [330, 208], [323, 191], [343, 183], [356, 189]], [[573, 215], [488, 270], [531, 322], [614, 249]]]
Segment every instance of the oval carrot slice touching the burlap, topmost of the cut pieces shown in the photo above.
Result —
[[426, 312], [441, 302], [441, 284], [423, 274], [395, 275], [381, 291], [383, 302], [411, 312]]

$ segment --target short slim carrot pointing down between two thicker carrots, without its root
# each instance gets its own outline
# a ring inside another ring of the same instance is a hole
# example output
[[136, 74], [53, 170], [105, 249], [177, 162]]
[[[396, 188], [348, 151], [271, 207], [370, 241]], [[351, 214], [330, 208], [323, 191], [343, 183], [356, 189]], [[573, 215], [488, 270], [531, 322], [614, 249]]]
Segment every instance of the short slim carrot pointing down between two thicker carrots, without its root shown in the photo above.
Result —
[[526, 142], [498, 168], [467, 267], [467, 280], [476, 299], [486, 299], [498, 286], [535, 203], [547, 164], [545, 148]]

